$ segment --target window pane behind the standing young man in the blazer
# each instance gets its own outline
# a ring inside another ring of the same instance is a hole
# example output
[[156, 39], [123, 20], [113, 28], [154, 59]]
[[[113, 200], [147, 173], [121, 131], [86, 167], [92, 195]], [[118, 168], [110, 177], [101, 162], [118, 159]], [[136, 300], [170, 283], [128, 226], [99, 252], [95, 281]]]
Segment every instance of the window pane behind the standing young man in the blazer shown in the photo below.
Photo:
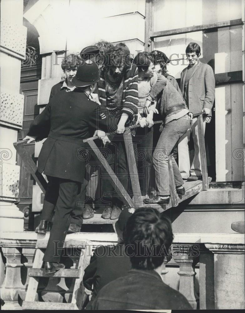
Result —
[[199, 44], [201, 62], [215, 74], [242, 70], [242, 25], [155, 38], [154, 49], [171, 60], [167, 69], [177, 79], [188, 65], [185, 50], [190, 42]]

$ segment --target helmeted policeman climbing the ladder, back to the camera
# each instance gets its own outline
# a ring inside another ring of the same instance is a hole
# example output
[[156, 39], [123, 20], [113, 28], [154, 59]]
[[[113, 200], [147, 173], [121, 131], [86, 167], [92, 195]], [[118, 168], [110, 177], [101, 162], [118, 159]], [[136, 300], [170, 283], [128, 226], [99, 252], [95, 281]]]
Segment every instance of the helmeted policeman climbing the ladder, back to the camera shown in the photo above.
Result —
[[38, 157], [38, 171], [57, 184], [54, 224], [43, 257], [46, 273], [64, 268], [64, 264], [59, 263], [62, 241], [65, 240], [74, 202], [81, 188], [85, 198], [84, 153], [88, 146], [83, 139], [96, 134], [103, 136], [104, 132], [100, 130], [107, 132], [111, 124], [101, 106], [90, 100], [99, 79], [95, 62], [80, 65], [72, 79], [77, 88], [73, 92], [55, 94], [31, 123], [28, 136], [24, 138], [31, 142], [47, 137]]

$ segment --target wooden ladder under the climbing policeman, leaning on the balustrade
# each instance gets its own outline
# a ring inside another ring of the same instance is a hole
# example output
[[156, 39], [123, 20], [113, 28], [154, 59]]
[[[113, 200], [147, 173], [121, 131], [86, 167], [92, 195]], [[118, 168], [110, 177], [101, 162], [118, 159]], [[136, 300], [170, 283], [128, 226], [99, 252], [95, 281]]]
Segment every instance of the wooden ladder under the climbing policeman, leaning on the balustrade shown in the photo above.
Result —
[[[83, 305], [83, 275], [84, 269], [90, 262], [90, 249], [92, 243], [89, 240], [73, 240], [66, 239], [65, 248], [79, 248], [81, 249], [78, 267], [76, 269], [60, 269], [52, 274], [45, 274], [45, 269], [42, 268], [43, 264], [43, 249], [47, 248], [48, 239], [37, 240], [36, 254], [33, 262], [33, 268], [30, 269], [30, 280], [27, 287], [25, 301], [23, 301], [23, 310], [81, 310]], [[39, 302], [35, 301], [38, 289], [39, 278], [49, 277], [64, 277], [75, 278], [74, 289], [72, 293], [71, 303], [58, 303], [58, 302]]]

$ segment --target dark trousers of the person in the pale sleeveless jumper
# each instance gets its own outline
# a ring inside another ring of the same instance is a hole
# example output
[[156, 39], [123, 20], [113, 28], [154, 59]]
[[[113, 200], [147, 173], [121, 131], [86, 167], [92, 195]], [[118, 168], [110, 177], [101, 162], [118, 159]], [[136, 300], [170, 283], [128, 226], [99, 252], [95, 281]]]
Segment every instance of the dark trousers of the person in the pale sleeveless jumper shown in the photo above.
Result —
[[140, 191], [142, 196], [145, 196], [148, 194], [152, 166], [153, 127], [137, 128], [133, 143], [136, 146], [135, 160], [138, 167]]

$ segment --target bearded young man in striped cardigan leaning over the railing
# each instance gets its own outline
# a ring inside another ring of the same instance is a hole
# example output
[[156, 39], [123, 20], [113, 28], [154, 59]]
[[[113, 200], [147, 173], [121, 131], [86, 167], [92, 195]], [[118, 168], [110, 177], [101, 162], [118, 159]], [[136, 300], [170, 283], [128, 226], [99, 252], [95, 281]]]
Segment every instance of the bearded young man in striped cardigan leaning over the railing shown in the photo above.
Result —
[[[106, 62], [100, 72], [98, 89], [100, 102], [106, 106], [108, 114], [117, 124], [117, 134], [110, 138], [111, 144], [107, 144], [111, 152], [108, 160], [111, 168], [120, 176], [120, 182], [127, 191], [128, 189], [128, 165], [125, 151], [125, 144], [122, 134], [125, 126], [130, 126], [137, 120], [138, 104], [138, 69], [135, 64], [127, 61], [124, 49], [112, 47], [105, 55]], [[117, 169], [117, 171], [115, 171]], [[102, 169], [105, 172], [104, 169]], [[102, 184], [103, 195], [105, 192], [110, 196], [103, 197], [109, 205], [105, 207], [102, 218], [118, 218], [122, 201], [112, 196], [113, 187], [111, 184]]]

